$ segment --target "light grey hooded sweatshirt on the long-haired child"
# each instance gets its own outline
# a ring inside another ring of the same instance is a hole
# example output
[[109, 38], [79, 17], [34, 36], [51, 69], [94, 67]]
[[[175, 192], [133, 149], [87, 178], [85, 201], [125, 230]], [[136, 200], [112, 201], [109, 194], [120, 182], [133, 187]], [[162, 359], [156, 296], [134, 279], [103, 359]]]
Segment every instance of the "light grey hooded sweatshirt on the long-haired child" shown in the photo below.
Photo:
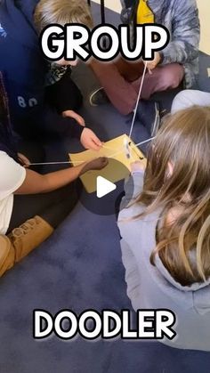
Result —
[[[141, 192], [143, 173], [133, 174], [133, 181], [129, 178], [125, 182], [122, 208]], [[150, 264], [149, 257], [156, 247], [156, 230], [162, 210], [141, 220], [133, 220], [133, 216], [141, 214], [144, 208], [135, 203], [123, 208], [118, 217], [127, 295], [133, 309], [173, 311], [177, 320], [174, 326], [177, 336], [172, 341], [165, 338], [162, 342], [176, 348], [210, 351], [210, 279], [183, 287], [166, 270], [158, 255], [156, 266]]]

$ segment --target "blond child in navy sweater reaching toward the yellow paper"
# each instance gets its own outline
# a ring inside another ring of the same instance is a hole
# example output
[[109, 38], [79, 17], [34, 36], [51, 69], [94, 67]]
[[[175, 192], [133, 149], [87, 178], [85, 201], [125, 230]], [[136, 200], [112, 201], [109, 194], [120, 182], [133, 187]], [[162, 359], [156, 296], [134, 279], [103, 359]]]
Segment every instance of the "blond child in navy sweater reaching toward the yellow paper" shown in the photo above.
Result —
[[0, 70], [4, 72], [12, 126], [22, 137], [77, 137], [86, 149], [101, 141], [77, 114], [82, 94], [71, 78], [74, 61], [46, 61], [39, 44], [44, 27], [80, 23], [92, 27], [85, 0], [0, 2]]

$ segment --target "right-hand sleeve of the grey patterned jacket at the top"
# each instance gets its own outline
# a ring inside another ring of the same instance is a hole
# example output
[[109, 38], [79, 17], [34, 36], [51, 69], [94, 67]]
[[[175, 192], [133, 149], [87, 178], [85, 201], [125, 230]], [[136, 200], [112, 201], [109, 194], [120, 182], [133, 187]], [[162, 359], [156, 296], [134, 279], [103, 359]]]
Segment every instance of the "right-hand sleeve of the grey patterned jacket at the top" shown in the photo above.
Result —
[[174, 9], [173, 38], [166, 46], [163, 64], [185, 63], [198, 57], [200, 25], [195, 1], [177, 1]]

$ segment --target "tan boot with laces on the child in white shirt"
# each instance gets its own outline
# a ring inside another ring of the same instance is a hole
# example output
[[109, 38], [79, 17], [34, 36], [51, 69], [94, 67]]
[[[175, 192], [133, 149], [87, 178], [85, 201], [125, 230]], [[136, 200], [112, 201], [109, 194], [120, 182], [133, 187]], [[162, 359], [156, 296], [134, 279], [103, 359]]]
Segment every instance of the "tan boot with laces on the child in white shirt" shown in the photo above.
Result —
[[45, 239], [52, 235], [52, 226], [40, 216], [27, 220], [26, 223], [15, 228], [8, 238], [12, 242], [15, 252], [15, 263], [20, 262], [32, 250], [39, 246]]

